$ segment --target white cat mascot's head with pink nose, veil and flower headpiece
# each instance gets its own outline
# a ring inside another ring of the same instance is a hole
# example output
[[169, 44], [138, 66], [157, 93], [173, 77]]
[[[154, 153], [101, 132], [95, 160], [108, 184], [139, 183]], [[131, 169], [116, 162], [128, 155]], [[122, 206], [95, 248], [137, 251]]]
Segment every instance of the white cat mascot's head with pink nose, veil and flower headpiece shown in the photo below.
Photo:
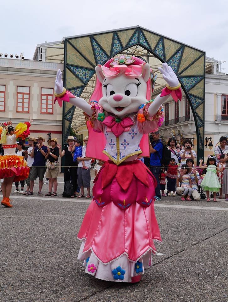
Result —
[[145, 61], [121, 55], [96, 68], [96, 85], [90, 101], [116, 116], [137, 112], [151, 99], [151, 69]]

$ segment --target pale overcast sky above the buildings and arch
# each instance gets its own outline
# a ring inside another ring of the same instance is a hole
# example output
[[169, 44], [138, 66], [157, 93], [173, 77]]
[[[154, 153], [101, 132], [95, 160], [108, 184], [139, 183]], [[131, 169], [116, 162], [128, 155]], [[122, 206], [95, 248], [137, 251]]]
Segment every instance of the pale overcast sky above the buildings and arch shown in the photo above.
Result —
[[226, 0], [11, 0], [2, 2], [0, 11], [3, 55], [24, 52], [32, 59], [36, 45], [45, 41], [140, 25], [226, 61], [228, 72]]

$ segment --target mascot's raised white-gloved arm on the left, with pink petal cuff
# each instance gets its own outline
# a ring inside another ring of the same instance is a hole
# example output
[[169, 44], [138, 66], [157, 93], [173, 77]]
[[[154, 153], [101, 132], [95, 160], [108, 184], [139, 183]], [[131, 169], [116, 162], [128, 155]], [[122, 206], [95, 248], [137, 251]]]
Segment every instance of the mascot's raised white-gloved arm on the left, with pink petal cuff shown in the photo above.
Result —
[[[55, 80], [55, 96], [58, 100], [58, 98], [62, 98], [67, 93], [66, 88], [63, 87], [63, 81], [62, 81], [62, 72], [59, 69], [57, 71], [56, 80]], [[82, 109], [87, 115], [92, 116], [93, 110], [91, 110], [91, 105], [86, 102], [83, 98], [75, 97], [73, 94], [69, 93], [69, 102]], [[62, 98], [62, 100], [66, 100]], [[60, 105], [60, 102], [58, 102]], [[60, 105], [61, 106], [61, 105]]]

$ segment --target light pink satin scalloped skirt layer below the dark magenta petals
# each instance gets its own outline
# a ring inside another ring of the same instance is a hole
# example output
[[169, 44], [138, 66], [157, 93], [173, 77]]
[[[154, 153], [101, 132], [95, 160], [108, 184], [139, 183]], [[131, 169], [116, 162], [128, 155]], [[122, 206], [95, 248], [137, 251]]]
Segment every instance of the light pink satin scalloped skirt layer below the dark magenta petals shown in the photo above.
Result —
[[86, 251], [92, 250], [103, 264], [123, 254], [136, 262], [148, 250], [156, 253], [153, 241], [161, 241], [154, 204], [146, 208], [135, 203], [121, 210], [113, 202], [99, 208], [93, 200], [78, 238], [86, 239], [82, 253], [86, 256]]

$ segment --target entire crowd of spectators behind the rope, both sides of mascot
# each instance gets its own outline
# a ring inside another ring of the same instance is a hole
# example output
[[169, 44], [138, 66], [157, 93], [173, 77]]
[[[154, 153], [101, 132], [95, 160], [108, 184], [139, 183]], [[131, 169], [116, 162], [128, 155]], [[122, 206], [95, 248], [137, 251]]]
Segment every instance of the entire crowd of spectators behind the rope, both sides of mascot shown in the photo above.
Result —
[[[63, 197], [71, 198], [91, 198], [90, 182], [91, 182], [91, 163], [92, 159], [86, 157], [86, 146], [88, 137], [85, 137], [83, 146], [82, 142], [76, 137], [69, 136], [67, 139], [67, 146], [61, 149], [57, 138], [48, 140], [48, 146], [44, 145], [45, 139], [42, 136], [36, 138], [29, 137], [27, 150], [23, 149], [23, 143], [17, 143], [17, 155], [23, 156], [27, 161], [27, 165], [31, 167], [30, 174], [25, 181], [21, 181], [21, 188], [19, 190], [19, 183], [15, 182], [15, 190], [13, 193], [22, 193], [24, 195], [33, 195], [33, 187], [35, 180], [39, 179], [38, 195], [42, 195], [43, 180], [46, 172], [48, 179], [48, 193], [45, 196], [57, 196], [57, 176], [59, 173], [59, 156], [64, 160], [62, 166], [64, 167], [64, 183], [70, 184], [70, 191], [64, 186]], [[164, 148], [170, 150], [169, 164], [165, 167], [162, 165], [162, 158], [164, 156]], [[0, 155], [4, 154], [4, 149], [0, 146]], [[194, 161], [197, 155], [192, 148], [192, 141], [186, 139], [183, 146], [177, 144], [174, 137], [170, 137], [165, 146], [159, 136], [159, 131], [151, 133], [150, 135], [150, 159], [147, 162], [150, 171], [157, 181], [155, 188], [156, 200], [161, 200], [162, 196], [176, 196], [181, 195], [186, 200], [194, 199], [199, 201], [201, 198], [199, 190], [200, 170]], [[220, 144], [214, 148], [214, 158], [216, 160], [216, 167], [219, 172], [217, 176], [221, 184], [220, 197], [225, 194], [228, 198], [228, 145], [227, 137], [220, 137]], [[139, 160], [143, 160], [140, 156]], [[145, 158], [146, 162], [146, 158]], [[98, 161], [94, 166], [95, 176], [102, 167], [103, 162]], [[202, 167], [203, 163], [201, 162]], [[206, 170], [204, 171], [206, 173]], [[1, 180], [2, 182], [2, 180]], [[24, 190], [25, 182], [27, 184]], [[68, 186], [69, 187], [69, 186]], [[166, 192], [165, 193], [165, 187]], [[86, 196], [84, 190], [86, 189]], [[0, 188], [1, 191], [1, 188]], [[162, 191], [162, 194], [161, 194]], [[70, 192], [70, 193], [69, 193]], [[187, 192], [187, 193], [186, 193]]]

